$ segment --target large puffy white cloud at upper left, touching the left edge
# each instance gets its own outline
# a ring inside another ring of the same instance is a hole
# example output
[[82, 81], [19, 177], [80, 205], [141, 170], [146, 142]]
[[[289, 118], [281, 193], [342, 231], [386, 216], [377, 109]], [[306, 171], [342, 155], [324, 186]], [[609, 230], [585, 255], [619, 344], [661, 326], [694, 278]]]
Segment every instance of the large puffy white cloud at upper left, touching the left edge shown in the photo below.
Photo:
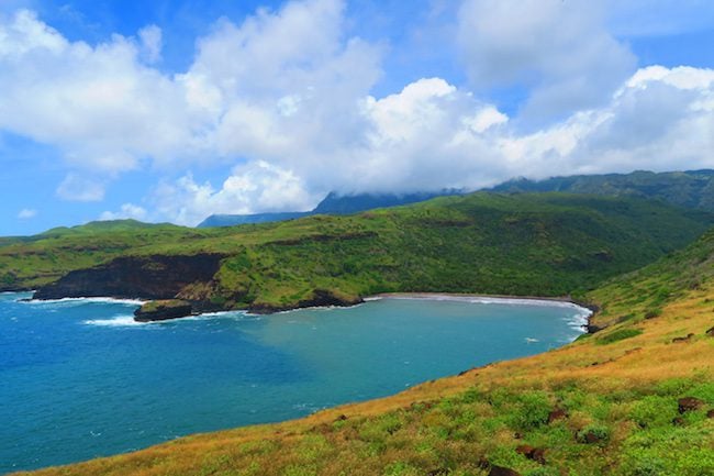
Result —
[[55, 145], [75, 166], [118, 173], [190, 146], [183, 97], [132, 38], [92, 47], [31, 11], [0, 16], [0, 129]]

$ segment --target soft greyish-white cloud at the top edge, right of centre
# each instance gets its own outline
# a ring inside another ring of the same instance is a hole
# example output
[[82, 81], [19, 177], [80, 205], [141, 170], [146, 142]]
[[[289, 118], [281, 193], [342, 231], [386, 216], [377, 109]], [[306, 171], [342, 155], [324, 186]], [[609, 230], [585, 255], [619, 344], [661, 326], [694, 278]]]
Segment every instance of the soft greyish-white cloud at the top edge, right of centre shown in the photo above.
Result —
[[604, 2], [465, 0], [458, 44], [477, 88], [532, 88], [522, 114], [560, 117], [606, 101], [635, 68], [605, 29]]

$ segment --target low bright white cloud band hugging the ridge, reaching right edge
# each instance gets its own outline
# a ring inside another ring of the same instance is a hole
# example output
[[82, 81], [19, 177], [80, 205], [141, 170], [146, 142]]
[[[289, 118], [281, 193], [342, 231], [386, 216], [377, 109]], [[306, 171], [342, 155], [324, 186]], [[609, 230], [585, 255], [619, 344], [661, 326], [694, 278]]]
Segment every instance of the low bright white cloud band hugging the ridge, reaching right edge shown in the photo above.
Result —
[[[714, 70], [637, 71], [602, 108], [520, 134], [493, 106], [422, 79], [361, 106], [364, 134], [339, 155], [315, 144], [235, 167], [215, 189], [190, 175], [154, 191], [152, 218], [197, 224], [211, 213], [309, 210], [342, 192], [477, 189], [514, 176], [714, 167]], [[328, 181], [328, 185], [327, 185]]]

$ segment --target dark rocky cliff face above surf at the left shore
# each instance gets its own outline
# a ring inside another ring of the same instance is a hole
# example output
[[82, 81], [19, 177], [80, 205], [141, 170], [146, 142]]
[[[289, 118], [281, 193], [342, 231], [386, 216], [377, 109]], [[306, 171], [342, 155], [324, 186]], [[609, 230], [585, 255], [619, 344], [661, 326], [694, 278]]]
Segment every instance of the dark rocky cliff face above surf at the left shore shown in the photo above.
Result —
[[181, 289], [210, 283], [223, 255], [125, 256], [89, 269], [70, 272], [42, 287], [35, 299], [112, 297], [172, 299]]

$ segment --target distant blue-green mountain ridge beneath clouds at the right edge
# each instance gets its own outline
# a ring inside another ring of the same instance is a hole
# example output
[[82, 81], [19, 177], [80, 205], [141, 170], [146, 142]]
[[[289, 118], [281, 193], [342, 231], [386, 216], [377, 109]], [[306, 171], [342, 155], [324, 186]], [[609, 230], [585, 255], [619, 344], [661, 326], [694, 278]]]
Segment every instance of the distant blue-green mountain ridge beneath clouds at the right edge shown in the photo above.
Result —
[[493, 188], [500, 192], [566, 191], [658, 199], [687, 208], [714, 211], [714, 170], [634, 171], [576, 175], [545, 180], [515, 179]]

